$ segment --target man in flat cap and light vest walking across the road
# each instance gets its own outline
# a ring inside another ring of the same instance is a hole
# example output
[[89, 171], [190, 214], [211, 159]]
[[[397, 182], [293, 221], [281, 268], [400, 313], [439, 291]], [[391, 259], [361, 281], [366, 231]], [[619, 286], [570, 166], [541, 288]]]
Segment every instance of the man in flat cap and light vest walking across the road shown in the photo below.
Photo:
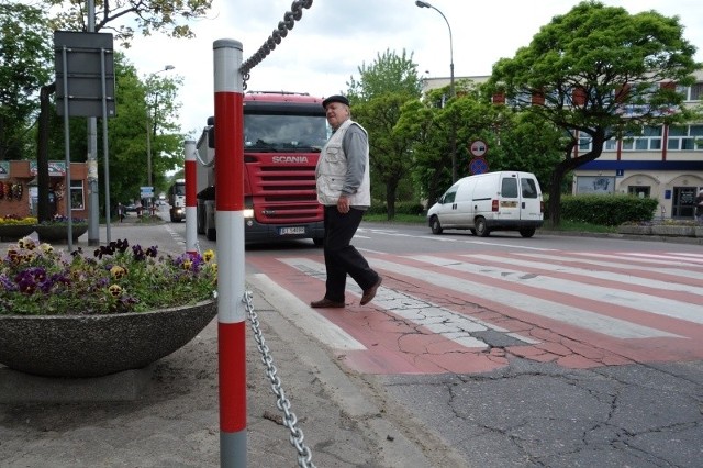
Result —
[[368, 133], [352, 121], [349, 101], [344, 96], [331, 96], [322, 107], [334, 132], [322, 148], [315, 169], [317, 200], [324, 205], [327, 280], [325, 296], [310, 305], [344, 308], [347, 275], [364, 291], [360, 301], [364, 305], [376, 297], [382, 281], [350, 245], [364, 212], [371, 205]]

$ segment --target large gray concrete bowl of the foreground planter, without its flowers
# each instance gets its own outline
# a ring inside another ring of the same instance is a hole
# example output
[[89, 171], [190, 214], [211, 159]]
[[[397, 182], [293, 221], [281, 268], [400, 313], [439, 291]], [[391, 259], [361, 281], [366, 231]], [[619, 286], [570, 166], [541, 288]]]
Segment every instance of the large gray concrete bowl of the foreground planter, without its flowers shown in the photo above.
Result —
[[2, 315], [0, 364], [45, 377], [143, 368], [179, 349], [216, 315], [216, 302], [105, 315]]

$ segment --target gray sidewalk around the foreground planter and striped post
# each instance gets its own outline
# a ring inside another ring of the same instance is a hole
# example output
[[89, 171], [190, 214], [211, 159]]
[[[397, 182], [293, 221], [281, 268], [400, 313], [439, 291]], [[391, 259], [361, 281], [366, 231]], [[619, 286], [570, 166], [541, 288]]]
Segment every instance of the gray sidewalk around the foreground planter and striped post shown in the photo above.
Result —
[[[141, 243], [158, 239], [161, 248], [179, 248], [159, 225], [129, 224], [113, 225], [112, 239], [134, 238], [130, 234], [140, 230]], [[8, 244], [0, 243], [1, 254]], [[86, 236], [77, 246], [87, 248]], [[415, 427], [412, 415], [383, 402], [371, 378], [346, 375], [328, 349], [289, 322], [286, 310], [271, 305], [284, 303], [275, 291], [263, 291], [257, 278], [247, 278], [247, 289], [253, 291], [265, 343], [291, 403], [290, 411], [304, 434], [303, 443], [312, 452], [312, 464], [464, 466], [453, 461], [456, 458], [450, 449], [436, 454], [446, 449], [444, 444]], [[134, 401], [0, 404], [0, 465], [220, 466], [216, 322], [215, 317], [188, 345], [157, 361], [149, 385]], [[290, 443], [290, 430], [282, 425], [283, 413], [276, 405], [249, 325], [247, 321], [247, 466], [299, 466], [298, 450]], [[401, 424], [402, 432], [398, 428]], [[412, 434], [413, 441], [404, 433]], [[434, 461], [427, 457], [434, 457]]]

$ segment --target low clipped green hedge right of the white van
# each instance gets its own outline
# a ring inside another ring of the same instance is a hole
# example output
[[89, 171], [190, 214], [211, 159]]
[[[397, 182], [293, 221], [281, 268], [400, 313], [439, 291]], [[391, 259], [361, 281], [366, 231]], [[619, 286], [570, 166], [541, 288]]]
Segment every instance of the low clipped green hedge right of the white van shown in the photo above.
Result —
[[658, 201], [628, 194], [561, 196], [561, 219], [617, 226], [633, 221], [651, 221]]

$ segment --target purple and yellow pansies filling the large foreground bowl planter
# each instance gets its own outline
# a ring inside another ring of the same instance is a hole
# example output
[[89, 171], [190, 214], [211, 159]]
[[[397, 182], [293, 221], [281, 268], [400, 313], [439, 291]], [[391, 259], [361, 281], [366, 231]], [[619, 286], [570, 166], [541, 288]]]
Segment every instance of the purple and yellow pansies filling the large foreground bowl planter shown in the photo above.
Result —
[[212, 299], [214, 253], [172, 256], [126, 239], [57, 252], [21, 238], [0, 258], [0, 314], [60, 315], [144, 312]]

